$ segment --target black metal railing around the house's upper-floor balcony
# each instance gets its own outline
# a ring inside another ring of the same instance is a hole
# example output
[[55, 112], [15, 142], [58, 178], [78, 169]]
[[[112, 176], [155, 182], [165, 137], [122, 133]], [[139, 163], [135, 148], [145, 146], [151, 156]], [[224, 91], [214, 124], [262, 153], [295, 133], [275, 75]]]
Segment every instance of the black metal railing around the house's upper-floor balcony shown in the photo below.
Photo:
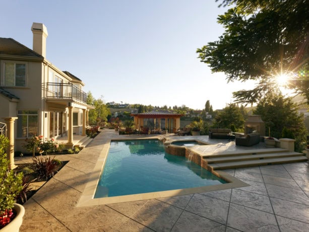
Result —
[[68, 83], [46, 83], [46, 98], [75, 99], [87, 103], [87, 94]]

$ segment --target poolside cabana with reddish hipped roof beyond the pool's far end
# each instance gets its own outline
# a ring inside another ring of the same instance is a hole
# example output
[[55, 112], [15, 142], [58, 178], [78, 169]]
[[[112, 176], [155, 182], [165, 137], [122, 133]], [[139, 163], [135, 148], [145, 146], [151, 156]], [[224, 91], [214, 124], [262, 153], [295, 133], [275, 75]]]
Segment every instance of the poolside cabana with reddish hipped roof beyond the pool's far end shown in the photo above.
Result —
[[168, 111], [151, 111], [139, 114], [132, 114], [134, 123], [138, 130], [149, 127], [152, 132], [161, 132], [165, 129], [173, 133], [180, 127], [180, 117], [182, 114], [173, 114]]

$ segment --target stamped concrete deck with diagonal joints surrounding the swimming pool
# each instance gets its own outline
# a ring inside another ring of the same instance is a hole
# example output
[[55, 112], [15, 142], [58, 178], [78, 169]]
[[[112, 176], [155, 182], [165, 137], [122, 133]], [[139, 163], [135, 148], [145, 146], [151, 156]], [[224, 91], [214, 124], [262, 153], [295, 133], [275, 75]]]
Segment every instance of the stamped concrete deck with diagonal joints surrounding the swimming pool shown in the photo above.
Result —
[[[135, 137], [119, 136], [104, 129], [80, 153], [57, 156], [69, 163], [24, 205], [26, 213], [20, 231], [308, 230], [307, 162], [225, 170], [249, 184], [248, 187], [76, 207], [86, 184], [91, 181], [89, 178], [98, 157], [101, 152], [106, 152], [105, 141]], [[199, 139], [208, 140], [208, 136]], [[236, 147], [233, 141], [211, 141], [214, 145], [208, 150], [246, 149]], [[263, 143], [258, 146], [262, 148]], [[31, 161], [29, 158], [16, 160], [17, 164], [25, 162]]]

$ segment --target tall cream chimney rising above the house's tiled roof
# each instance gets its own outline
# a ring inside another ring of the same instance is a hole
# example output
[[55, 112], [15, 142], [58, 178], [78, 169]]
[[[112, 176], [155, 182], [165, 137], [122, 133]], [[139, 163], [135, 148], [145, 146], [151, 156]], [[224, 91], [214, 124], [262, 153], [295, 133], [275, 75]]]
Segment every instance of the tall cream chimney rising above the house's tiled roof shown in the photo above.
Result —
[[31, 31], [33, 33], [33, 51], [46, 57], [47, 28], [42, 23], [33, 23]]

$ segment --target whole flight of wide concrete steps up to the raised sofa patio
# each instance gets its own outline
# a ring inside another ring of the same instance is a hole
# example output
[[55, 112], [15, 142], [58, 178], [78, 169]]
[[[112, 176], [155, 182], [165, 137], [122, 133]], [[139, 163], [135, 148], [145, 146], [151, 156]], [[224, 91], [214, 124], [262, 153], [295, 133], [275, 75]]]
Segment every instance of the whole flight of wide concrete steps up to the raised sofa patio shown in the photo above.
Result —
[[288, 151], [282, 148], [263, 149], [260, 151], [245, 150], [237, 154], [235, 152], [224, 152], [222, 154], [204, 157], [204, 161], [208, 167], [213, 170], [285, 164], [307, 160], [302, 153]]

